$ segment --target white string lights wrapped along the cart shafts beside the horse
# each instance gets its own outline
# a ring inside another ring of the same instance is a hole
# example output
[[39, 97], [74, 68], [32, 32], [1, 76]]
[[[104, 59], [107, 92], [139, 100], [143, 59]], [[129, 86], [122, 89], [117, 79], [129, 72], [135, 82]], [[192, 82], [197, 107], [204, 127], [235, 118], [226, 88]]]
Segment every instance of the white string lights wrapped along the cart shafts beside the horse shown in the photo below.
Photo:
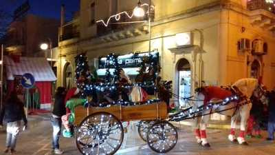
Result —
[[[220, 105], [227, 105], [228, 103], [232, 102], [232, 101], [238, 101], [239, 100], [239, 96], [230, 96], [226, 99], [224, 99], [223, 101], [221, 101], [220, 103], [208, 103], [208, 105], [201, 105], [197, 108], [197, 110], [192, 111], [192, 107], [188, 107], [185, 110], [182, 110], [181, 112], [178, 112], [177, 114], [173, 114], [172, 116], [170, 116], [169, 121], [182, 121], [185, 119], [189, 119], [189, 118], [195, 118], [195, 114], [198, 114], [199, 112], [203, 112], [206, 110], [210, 110], [212, 109], [213, 106], [220, 106]], [[243, 103], [243, 105], [246, 104]], [[239, 106], [239, 105], [238, 105]], [[210, 112], [210, 114], [212, 114]]]

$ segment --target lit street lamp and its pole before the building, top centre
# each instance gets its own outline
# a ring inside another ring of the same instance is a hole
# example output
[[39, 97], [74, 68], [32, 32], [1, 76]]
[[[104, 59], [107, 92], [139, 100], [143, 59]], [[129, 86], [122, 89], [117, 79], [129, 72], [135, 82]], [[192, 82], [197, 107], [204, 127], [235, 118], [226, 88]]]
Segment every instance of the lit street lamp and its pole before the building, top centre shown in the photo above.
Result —
[[[149, 33], [149, 53], [151, 52], [151, 0], [149, 1], [149, 5], [148, 5], [148, 33]], [[143, 10], [143, 8], [141, 7], [141, 2], [140, 0], [137, 3], [137, 6], [135, 7], [135, 9], [133, 10], [133, 15], [135, 17], [144, 17], [145, 12]]]

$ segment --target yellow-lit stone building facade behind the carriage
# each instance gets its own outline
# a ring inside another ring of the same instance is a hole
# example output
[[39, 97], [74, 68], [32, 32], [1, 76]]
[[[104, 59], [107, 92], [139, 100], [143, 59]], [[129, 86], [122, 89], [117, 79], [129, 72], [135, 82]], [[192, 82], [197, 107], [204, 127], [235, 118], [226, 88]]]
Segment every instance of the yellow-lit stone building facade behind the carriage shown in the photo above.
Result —
[[[142, 3], [150, 3], [148, 0]], [[265, 5], [255, 8], [255, 3]], [[79, 16], [63, 23], [58, 43], [57, 85], [74, 79], [74, 56], [87, 52], [97, 68], [98, 56], [157, 50], [161, 76], [173, 81], [175, 94], [200, 85], [230, 85], [245, 77], [263, 76], [275, 87], [275, 14], [264, 0], [151, 0], [151, 33], [146, 17], [123, 17], [105, 27], [97, 23], [115, 13], [133, 12], [135, 0], [82, 0]], [[73, 80], [72, 80], [73, 81]], [[72, 83], [70, 81], [69, 83]]]

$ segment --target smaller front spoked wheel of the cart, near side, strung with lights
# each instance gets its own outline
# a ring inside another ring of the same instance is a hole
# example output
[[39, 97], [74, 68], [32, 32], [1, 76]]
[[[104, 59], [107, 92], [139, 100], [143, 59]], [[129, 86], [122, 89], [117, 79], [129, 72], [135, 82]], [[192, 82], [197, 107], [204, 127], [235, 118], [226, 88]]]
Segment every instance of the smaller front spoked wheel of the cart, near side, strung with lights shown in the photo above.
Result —
[[148, 130], [147, 143], [155, 152], [169, 152], [177, 144], [177, 130], [167, 121], [155, 123]]

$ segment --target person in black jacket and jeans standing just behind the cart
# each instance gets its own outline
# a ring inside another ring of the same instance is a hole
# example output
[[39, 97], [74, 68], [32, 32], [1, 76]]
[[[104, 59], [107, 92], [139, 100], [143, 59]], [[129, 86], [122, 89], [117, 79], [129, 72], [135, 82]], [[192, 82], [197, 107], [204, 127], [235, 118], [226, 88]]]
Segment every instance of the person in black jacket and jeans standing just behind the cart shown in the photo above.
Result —
[[66, 114], [64, 105], [66, 90], [65, 87], [58, 87], [55, 94], [54, 109], [52, 110], [52, 149], [54, 154], [63, 154], [59, 148], [59, 137], [61, 135], [61, 116]]

